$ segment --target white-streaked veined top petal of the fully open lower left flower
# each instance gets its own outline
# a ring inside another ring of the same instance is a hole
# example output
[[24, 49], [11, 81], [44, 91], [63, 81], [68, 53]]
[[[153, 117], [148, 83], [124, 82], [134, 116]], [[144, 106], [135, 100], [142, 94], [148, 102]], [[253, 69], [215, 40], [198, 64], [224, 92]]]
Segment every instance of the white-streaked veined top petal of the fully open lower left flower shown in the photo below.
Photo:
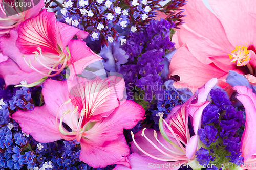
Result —
[[121, 77], [96, 77], [93, 80], [84, 78], [70, 90], [69, 97], [72, 103], [78, 106], [79, 113], [83, 108], [87, 109], [86, 120], [92, 122], [100, 120], [102, 114], [120, 105], [118, 99], [122, 99], [124, 88], [124, 80]]

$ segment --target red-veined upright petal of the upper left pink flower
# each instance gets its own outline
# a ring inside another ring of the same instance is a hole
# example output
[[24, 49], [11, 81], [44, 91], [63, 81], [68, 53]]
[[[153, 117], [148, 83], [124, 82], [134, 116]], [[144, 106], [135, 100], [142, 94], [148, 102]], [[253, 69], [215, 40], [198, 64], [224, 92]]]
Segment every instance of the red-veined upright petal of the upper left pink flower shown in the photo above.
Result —
[[35, 18], [20, 23], [16, 45], [20, 52], [31, 54], [38, 51], [42, 53], [59, 54], [56, 41], [56, 17], [54, 13], [42, 10]]

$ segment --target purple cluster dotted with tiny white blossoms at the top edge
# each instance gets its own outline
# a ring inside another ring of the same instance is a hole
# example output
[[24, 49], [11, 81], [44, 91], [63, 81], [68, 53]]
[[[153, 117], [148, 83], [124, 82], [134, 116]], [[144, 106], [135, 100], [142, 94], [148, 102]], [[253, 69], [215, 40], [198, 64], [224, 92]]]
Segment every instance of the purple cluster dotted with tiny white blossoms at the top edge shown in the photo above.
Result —
[[108, 44], [118, 40], [118, 29], [141, 31], [155, 16], [160, 0], [66, 0], [60, 21], [90, 33], [90, 38]]

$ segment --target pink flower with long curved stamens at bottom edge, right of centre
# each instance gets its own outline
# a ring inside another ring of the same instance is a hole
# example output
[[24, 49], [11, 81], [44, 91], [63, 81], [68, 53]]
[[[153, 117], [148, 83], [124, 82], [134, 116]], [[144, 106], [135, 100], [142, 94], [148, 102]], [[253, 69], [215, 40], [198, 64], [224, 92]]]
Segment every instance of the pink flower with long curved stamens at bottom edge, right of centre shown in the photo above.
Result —
[[[135, 135], [132, 133], [131, 150], [135, 153], [128, 157], [132, 169], [179, 169], [182, 164], [193, 169], [201, 167], [195, 158], [197, 150], [202, 146], [198, 129], [201, 128], [203, 109], [210, 103], [206, 100], [208, 93], [216, 83], [216, 78], [208, 81], [183, 105], [174, 107], [165, 120], [159, 113], [160, 131], [144, 128]], [[194, 136], [189, 134], [189, 116]], [[115, 170], [119, 169], [129, 168], [117, 165]]]

